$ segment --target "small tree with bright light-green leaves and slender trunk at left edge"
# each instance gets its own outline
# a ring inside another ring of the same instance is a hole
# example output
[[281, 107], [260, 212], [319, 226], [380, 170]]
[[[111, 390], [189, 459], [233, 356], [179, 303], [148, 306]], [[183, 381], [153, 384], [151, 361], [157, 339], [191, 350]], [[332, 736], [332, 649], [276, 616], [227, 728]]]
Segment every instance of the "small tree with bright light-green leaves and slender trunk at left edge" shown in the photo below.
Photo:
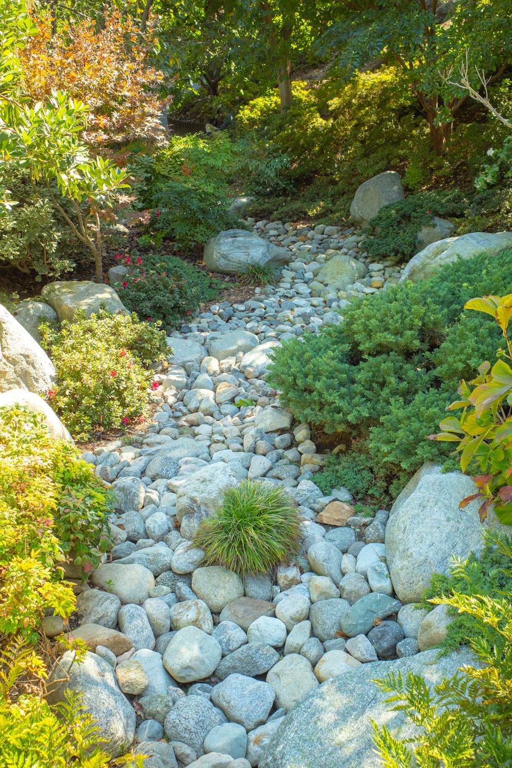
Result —
[[[12, 164], [43, 184], [55, 209], [90, 250], [101, 283], [100, 214], [111, 205], [114, 191], [126, 186], [125, 174], [110, 161], [91, 157], [81, 137], [86, 105], [62, 91], [51, 91], [46, 104], [26, 104], [18, 51], [34, 33], [24, 0], [5, 0], [0, 8], [0, 190]], [[2, 194], [4, 205], [15, 205], [5, 184]]]

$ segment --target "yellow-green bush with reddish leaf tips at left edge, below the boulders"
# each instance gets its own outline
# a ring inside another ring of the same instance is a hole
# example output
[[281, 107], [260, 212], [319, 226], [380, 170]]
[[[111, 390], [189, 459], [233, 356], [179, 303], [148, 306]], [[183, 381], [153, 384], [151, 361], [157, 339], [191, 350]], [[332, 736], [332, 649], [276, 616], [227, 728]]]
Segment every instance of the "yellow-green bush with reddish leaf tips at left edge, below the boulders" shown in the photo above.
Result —
[[34, 642], [46, 610], [71, 613], [61, 564], [70, 551], [86, 569], [99, 562], [112, 508], [91, 465], [51, 439], [41, 415], [0, 409], [0, 634]]

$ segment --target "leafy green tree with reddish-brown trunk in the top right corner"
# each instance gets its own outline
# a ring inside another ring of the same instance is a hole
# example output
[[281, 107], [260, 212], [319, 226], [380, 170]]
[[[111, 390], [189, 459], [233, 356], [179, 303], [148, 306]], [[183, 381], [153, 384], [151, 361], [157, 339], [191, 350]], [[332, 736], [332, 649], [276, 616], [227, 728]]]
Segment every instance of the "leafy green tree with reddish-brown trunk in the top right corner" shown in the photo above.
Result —
[[405, 84], [418, 96], [438, 153], [467, 95], [445, 75], [461, 66], [471, 51], [469, 71], [478, 90], [475, 68], [492, 73], [488, 82], [494, 81], [510, 56], [509, 0], [337, 0], [327, 6], [326, 18], [330, 26], [321, 47], [335, 55], [345, 75], [372, 60], [401, 67]]

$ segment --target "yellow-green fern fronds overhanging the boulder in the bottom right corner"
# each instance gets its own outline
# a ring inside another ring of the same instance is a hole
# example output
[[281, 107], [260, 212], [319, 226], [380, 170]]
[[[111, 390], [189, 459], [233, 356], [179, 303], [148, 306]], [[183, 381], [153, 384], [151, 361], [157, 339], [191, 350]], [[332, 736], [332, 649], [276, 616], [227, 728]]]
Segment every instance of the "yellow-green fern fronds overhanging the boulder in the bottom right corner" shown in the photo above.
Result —
[[[512, 545], [502, 537], [494, 546], [512, 572]], [[468, 571], [468, 575], [471, 571]], [[471, 578], [471, 577], [470, 577]], [[390, 693], [386, 701], [405, 713], [416, 730], [400, 740], [374, 727], [379, 763], [385, 768], [507, 768], [512, 765], [512, 608], [510, 587], [494, 594], [454, 591], [435, 598], [471, 620], [474, 664], [430, 687], [420, 675], [391, 672], [375, 680]], [[458, 589], [458, 587], [457, 587]]]

